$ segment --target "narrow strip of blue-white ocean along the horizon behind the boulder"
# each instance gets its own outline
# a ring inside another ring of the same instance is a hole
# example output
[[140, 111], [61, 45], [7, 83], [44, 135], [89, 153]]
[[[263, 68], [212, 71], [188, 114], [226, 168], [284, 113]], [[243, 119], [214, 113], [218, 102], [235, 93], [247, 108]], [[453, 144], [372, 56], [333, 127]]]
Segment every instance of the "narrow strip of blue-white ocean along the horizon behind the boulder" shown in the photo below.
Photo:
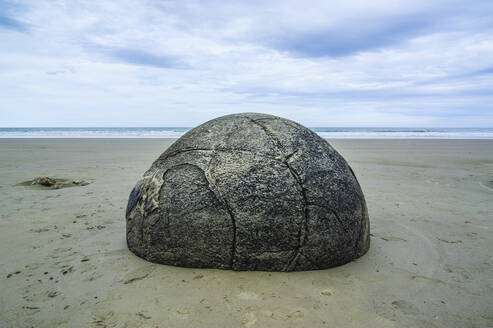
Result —
[[[179, 138], [190, 127], [0, 128], [0, 138]], [[493, 128], [310, 127], [329, 139], [493, 139]]]

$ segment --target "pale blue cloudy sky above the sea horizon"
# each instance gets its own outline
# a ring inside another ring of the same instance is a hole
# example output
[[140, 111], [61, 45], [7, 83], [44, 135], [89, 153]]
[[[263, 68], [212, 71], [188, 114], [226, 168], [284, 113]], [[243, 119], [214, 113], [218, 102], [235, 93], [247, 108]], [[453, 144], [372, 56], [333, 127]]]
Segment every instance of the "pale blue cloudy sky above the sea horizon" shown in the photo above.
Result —
[[493, 127], [493, 1], [0, 0], [1, 127]]

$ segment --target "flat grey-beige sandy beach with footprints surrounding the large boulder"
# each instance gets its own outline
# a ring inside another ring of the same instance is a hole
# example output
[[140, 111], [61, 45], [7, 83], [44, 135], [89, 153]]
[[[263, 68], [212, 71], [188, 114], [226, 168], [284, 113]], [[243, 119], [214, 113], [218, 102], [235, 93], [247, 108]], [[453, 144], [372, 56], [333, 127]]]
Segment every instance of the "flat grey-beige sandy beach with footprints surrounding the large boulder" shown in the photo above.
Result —
[[[365, 192], [370, 251], [296, 273], [128, 251], [128, 194], [171, 142], [0, 140], [1, 327], [493, 326], [493, 141], [331, 141]], [[92, 183], [15, 186], [36, 176]]]

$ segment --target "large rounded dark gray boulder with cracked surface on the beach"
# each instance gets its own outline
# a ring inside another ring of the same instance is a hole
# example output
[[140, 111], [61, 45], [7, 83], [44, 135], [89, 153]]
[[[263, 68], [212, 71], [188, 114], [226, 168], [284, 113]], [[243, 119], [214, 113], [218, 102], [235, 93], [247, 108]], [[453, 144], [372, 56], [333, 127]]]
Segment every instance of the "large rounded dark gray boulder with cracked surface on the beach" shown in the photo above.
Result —
[[255, 113], [189, 131], [137, 182], [127, 243], [163, 264], [233, 270], [324, 269], [369, 248], [353, 171], [311, 130]]

